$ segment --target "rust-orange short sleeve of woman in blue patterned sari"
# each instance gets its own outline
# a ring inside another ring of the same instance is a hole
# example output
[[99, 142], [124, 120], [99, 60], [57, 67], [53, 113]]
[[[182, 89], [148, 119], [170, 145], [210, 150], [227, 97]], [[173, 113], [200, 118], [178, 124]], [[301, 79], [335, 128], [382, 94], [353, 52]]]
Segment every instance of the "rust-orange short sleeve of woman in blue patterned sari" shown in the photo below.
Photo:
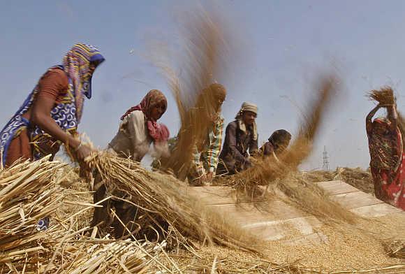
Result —
[[39, 80], [38, 96], [47, 97], [57, 102], [68, 89], [68, 77], [61, 69], [52, 69]]

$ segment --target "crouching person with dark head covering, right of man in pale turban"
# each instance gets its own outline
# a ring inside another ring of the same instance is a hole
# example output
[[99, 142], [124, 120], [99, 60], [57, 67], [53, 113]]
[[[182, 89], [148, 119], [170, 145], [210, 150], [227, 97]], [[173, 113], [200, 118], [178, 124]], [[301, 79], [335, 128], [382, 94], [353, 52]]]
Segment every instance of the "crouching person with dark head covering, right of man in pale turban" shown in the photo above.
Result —
[[281, 154], [290, 144], [291, 134], [285, 129], [279, 129], [272, 133], [269, 141], [260, 147], [260, 154], [263, 157], [272, 156], [277, 159], [277, 156]]

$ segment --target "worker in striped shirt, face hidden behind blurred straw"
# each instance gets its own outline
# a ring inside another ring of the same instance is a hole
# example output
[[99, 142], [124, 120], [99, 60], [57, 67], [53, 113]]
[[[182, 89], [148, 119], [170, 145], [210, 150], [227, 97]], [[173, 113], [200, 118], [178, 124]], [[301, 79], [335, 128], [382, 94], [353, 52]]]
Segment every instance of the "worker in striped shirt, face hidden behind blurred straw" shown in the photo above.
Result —
[[213, 110], [212, 113], [207, 113], [207, 120], [210, 122], [209, 129], [205, 140], [194, 148], [193, 162], [187, 176], [190, 185], [193, 186], [210, 185], [216, 173], [223, 133], [221, 106], [226, 98], [226, 89], [215, 83], [204, 89], [200, 98], [202, 96], [212, 98], [210, 103], [213, 103], [214, 106], [205, 108], [206, 112], [209, 109]]

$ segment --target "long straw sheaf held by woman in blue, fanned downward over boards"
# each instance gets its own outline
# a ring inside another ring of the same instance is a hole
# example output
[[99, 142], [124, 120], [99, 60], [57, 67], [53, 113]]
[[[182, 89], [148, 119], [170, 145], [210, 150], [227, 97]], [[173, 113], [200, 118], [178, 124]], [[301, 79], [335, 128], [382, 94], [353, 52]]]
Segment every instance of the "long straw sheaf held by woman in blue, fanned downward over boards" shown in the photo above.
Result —
[[258, 239], [246, 235], [225, 216], [189, 195], [186, 185], [172, 176], [146, 171], [130, 159], [106, 152], [89, 159], [89, 164], [98, 170], [107, 188], [116, 187], [128, 194], [128, 202], [143, 210], [142, 219], [149, 218], [149, 224], [156, 223], [157, 216], [182, 236], [250, 252], [260, 251]]

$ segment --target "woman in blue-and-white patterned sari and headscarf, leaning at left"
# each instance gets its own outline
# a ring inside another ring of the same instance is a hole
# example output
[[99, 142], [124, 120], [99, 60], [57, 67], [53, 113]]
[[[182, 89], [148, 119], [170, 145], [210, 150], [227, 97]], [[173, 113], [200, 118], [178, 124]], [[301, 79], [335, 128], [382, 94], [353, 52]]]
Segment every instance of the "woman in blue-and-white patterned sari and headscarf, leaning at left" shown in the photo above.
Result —
[[40, 159], [56, 154], [59, 146], [75, 152], [82, 161], [90, 153], [76, 137], [84, 96], [91, 98], [91, 76], [104, 61], [91, 45], [76, 44], [63, 65], [52, 66], [40, 78], [21, 108], [0, 131], [1, 161], [10, 166], [17, 159]]

